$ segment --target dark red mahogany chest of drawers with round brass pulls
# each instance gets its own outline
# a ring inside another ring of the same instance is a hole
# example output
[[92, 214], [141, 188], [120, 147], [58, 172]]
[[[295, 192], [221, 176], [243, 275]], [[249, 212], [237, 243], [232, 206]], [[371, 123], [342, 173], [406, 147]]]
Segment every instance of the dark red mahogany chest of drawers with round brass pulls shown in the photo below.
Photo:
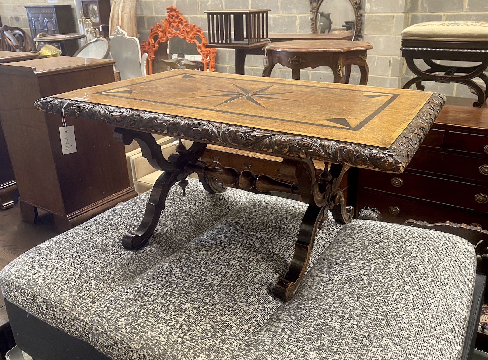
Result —
[[403, 174], [359, 170], [356, 215], [488, 228], [488, 109], [446, 105]]

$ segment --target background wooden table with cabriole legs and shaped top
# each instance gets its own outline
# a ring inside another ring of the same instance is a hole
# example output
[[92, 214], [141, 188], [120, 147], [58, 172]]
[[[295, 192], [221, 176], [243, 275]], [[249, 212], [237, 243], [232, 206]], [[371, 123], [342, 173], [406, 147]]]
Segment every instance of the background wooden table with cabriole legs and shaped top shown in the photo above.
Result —
[[[366, 41], [348, 40], [293, 40], [272, 42], [264, 47], [269, 66], [263, 76], [270, 77], [276, 64], [289, 67], [294, 80], [300, 80], [300, 69], [328, 66], [334, 74], [334, 82], [349, 82], [350, 66], [358, 65], [361, 71], [360, 85], [367, 84], [369, 69], [366, 51], [373, 46]], [[344, 67], [347, 73], [344, 73]]]

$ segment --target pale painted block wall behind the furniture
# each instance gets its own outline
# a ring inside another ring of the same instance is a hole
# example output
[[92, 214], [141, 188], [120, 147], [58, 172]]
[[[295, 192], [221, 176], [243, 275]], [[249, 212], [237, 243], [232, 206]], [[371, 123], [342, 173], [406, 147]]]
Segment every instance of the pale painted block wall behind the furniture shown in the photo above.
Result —
[[[28, 0], [47, 3], [47, 0]], [[77, 0], [78, 1], [78, 0]], [[338, 0], [336, 0], [338, 1]], [[24, 4], [27, 0], [0, 0], [0, 15], [4, 24], [28, 29]], [[61, 0], [60, 0], [61, 3]], [[73, 0], [63, 3], [73, 4]], [[310, 32], [309, 0], [138, 0], [137, 26], [140, 40], [146, 40], [149, 28], [166, 17], [165, 9], [176, 6], [185, 18], [207, 30], [205, 10], [268, 8], [270, 32]], [[488, 0], [362, 0], [363, 40], [374, 49], [368, 51], [369, 85], [401, 87], [413, 74], [401, 58], [401, 32], [411, 24], [429, 20], [488, 21]], [[78, 14], [77, 14], [78, 15]], [[234, 72], [234, 50], [217, 51], [217, 71]], [[261, 76], [263, 57], [246, 59], [245, 73]], [[291, 70], [277, 65], [273, 77], [291, 78]], [[304, 80], [332, 81], [329, 68], [305, 69]], [[351, 83], [359, 82], [359, 71], [353, 66]], [[449, 96], [475, 97], [467, 86], [426, 82], [428, 90]]]

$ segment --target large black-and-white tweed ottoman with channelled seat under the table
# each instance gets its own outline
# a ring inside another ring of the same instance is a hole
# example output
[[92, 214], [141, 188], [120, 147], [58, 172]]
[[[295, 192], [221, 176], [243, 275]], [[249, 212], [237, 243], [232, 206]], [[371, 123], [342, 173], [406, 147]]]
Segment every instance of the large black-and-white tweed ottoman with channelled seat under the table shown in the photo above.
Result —
[[468, 241], [327, 220], [284, 303], [272, 289], [306, 205], [189, 181], [138, 251], [120, 239], [147, 194], [7, 265], [19, 347], [37, 360], [467, 359], [484, 290]]

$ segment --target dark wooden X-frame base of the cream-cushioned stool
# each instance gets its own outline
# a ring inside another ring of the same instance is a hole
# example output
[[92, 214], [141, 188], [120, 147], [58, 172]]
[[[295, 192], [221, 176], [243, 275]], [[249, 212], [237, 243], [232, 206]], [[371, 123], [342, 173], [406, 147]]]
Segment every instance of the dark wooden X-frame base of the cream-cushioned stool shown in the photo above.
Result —
[[[488, 68], [488, 42], [403, 40], [401, 50], [408, 68], [416, 75], [415, 78], [407, 81], [403, 86], [404, 89], [415, 84], [417, 90], [424, 90], [425, 86], [422, 85], [422, 81], [446, 84], [457, 82], [469, 86], [476, 92], [478, 100], [473, 102], [473, 106], [481, 107], [487, 100], [488, 77], [484, 71]], [[424, 60], [429, 68], [421, 70], [415, 64], [414, 59]], [[481, 64], [447, 66], [438, 64], [433, 60], [479, 61]], [[486, 88], [483, 89], [474, 82], [473, 79], [475, 78], [483, 80]]]

